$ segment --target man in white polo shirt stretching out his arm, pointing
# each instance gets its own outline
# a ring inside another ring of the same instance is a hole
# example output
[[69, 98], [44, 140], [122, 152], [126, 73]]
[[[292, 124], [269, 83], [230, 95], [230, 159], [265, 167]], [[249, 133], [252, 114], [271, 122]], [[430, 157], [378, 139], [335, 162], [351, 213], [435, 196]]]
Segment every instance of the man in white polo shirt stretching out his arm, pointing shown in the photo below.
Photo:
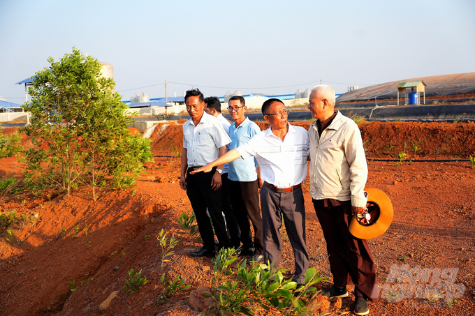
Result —
[[302, 285], [309, 268], [305, 238], [305, 203], [302, 181], [307, 177], [309, 136], [305, 128], [287, 122], [287, 110], [279, 99], [266, 100], [262, 105], [270, 128], [254, 136], [247, 144], [228, 151], [196, 172], [210, 172], [214, 166], [240, 157], [256, 157], [264, 186], [261, 190], [261, 210], [264, 236], [264, 262], [279, 267], [282, 239], [279, 229], [284, 218], [288, 239], [293, 248], [295, 273], [293, 280]]

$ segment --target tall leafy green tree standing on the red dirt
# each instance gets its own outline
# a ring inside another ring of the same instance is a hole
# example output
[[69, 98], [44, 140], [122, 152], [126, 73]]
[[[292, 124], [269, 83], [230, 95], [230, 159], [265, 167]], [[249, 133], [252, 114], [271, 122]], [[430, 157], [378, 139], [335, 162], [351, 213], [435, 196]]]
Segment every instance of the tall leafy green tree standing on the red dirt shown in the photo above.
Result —
[[33, 142], [26, 153], [25, 183], [41, 188], [57, 186], [69, 195], [82, 183], [92, 187], [112, 183], [129, 188], [142, 165], [152, 158], [149, 140], [129, 134], [133, 121], [127, 106], [114, 92], [115, 82], [102, 77], [101, 64], [73, 47], [49, 68], [31, 78], [31, 112], [23, 129]]

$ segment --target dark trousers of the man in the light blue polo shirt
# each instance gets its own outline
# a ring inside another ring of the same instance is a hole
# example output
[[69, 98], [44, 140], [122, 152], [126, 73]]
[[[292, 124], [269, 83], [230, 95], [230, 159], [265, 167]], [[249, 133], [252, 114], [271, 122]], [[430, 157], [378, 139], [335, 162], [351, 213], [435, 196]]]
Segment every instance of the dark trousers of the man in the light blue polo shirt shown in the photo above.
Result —
[[[232, 181], [229, 180], [231, 204], [235, 219], [241, 230], [243, 249], [254, 246], [256, 254], [263, 254], [263, 227], [261, 209], [259, 209], [258, 183], [256, 181]], [[251, 236], [251, 219], [254, 227], [254, 244]], [[234, 246], [234, 245], [233, 245]]]

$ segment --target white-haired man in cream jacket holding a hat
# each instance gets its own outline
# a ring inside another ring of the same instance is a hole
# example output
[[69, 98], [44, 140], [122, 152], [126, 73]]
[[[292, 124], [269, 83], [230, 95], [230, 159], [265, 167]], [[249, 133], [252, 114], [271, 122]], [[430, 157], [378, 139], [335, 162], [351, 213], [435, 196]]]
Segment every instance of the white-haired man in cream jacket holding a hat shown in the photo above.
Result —
[[316, 86], [309, 96], [309, 110], [316, 119], [309, 127], [310, 195], [327, 243], [333, 287], [322, 295], [348, 296], [346, 285], [355, 285], [356, 315], [367, 315], [367, 299], [378, 301], [376, 269], [367, 241], [349, 232], [354, 213], [366, 209], [367, 163], [358, 125], [335, 110], [335, 91]]

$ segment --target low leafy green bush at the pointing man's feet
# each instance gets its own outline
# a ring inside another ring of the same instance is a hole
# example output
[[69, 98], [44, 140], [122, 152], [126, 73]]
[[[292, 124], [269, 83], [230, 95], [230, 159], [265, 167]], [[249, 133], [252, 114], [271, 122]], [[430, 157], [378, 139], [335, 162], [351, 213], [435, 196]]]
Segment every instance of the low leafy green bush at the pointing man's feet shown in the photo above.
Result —
[[211, 292], [221, 315], [253, 315], [254, 308], [277, 308], [284, 315], [312, 314], [316, 308], [309, 304], [309, 296], [316, 292], [312, 285], [322, 280], [315, 268], [307, 270], [304, 287], [297, 289], [297, 283], [284, 280], [286, 270], [274, 269], [273, 264], [255, 264], [249, 269], [244, 259], [232, 269], [234, 255], [234, 249], [223, 248], [213, 260]]

